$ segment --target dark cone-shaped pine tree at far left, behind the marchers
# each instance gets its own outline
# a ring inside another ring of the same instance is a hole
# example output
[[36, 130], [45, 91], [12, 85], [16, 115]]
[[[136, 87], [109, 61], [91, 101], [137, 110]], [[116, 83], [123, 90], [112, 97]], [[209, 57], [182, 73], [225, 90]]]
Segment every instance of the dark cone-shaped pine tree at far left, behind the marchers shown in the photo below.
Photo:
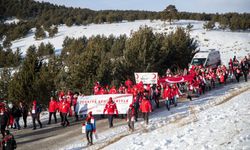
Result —
[[11, 100], [25, 100], [28, 104], [37, 99], [39, 90], [35, 81], [41, 68], [41, 62], [37, 58], [36, 47], [31, 46], [27, 50], [23, 65], [19, 72], [14, 74], [9, 84], [8, 96]]

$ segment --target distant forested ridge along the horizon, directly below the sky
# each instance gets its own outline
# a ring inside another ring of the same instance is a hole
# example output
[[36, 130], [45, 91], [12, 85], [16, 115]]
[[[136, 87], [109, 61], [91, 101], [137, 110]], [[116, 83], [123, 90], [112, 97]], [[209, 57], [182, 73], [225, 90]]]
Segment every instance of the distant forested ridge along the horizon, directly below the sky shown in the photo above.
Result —
[[[20, 19], [18, 24], [6, 25], [3, 21], [9, 17]], [[136, 11], [136, 10], [101, 10], [94, 11], [90, 9], [73, 8], [58, 6], [47, 2], [36, 2], [33, 0], [1, 0], [0, 2], [0, 40], [6, 40], [6, 46], [9, 41], [24, 37], [31, 28], [44, 29], [51, 32], [53, 37], [56, 32], [50, 29], [52, 26], [60, 24], [87, 25], [90, 23], [113, 23], [123, 20], [134, 21], [142, 19], [192, 19], [219, 22], [221, 29], [229, 28], [236, 30], [249, 30], [249, 13], [225, 13], [225, 14], [206, 14], [178, 12], [174, 5], [168, 5], [164, 10], [155, 11]], [[210, 24], [211, 24], [210, 23]], [[39, 30], [40, 31], [40, 30]], [[56, 30], [55, 30], [56, 31]], [[41, 33], [41, 32], [40, 32]], [[41, 35], [41, 34], [40, 34]], [[42, 35], [41, 37], [43, 37]], [[38, 36], [38, 39], [41, 38]]]

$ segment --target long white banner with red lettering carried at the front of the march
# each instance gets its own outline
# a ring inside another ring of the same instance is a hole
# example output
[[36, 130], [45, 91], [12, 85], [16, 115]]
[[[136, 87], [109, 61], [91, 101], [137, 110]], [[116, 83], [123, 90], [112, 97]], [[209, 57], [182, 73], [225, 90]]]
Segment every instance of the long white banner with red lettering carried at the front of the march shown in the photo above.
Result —
[[105, 105], [110, 97], [112, 97], [113, 101], [116, 103], [118, 114], [126, 114], [133, 100], [132, 94], [79, 96], [76, 110], [78, 114], [87, 114], [90, 111], [92, 111], [92, 114], [103, 114]]

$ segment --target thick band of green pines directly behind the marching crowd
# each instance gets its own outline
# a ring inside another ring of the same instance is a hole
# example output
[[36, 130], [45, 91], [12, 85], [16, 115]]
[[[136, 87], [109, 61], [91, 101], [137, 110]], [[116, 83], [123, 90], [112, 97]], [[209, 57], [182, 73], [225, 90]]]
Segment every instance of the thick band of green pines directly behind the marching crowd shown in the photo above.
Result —
[[118, 86], [127, 78], [134, 79], [134, 72], [163, 75], [167, 68], [185, 68], [196, 48], [196, 41], [183, 28], [164, 34], [142, 26], [130, 37], [66, 37], [61, 55], [55, 55], [50, 43], [42, 43], [30, 46], [18, 67], [3, 69], [0, 95], [13, 102], [37, 99], [47, 104], [60, 90], [92, 94], [97, 81]]

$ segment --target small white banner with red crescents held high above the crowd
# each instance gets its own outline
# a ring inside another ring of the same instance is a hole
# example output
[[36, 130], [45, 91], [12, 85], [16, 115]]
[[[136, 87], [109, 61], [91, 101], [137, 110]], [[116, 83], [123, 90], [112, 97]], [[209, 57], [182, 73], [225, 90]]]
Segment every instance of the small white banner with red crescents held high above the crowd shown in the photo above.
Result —
[[142, 81], [143, 84], [157, 84], [157, 79], [158, 79], [157, 72], [135, 73], [136, 83]]

